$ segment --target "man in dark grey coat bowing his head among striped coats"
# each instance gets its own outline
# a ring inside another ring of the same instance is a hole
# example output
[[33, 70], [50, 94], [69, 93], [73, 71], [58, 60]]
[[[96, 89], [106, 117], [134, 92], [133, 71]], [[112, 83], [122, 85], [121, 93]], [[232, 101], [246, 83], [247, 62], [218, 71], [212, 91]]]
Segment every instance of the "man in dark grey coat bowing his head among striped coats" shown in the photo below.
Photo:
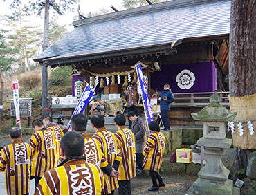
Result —
[[135, 144], [136, 144], [136, 168], [138, 169], [136, 175], [139, 175], [143, 172], [143, 149], [144, 145], [147, 141], [147, 134], [146, 134], [146, 124], [142, 118], [136, 116], [133, 111], [128, 113], [128, 118], [131, 120], [131, 131], [134, 133], [135, 137]]

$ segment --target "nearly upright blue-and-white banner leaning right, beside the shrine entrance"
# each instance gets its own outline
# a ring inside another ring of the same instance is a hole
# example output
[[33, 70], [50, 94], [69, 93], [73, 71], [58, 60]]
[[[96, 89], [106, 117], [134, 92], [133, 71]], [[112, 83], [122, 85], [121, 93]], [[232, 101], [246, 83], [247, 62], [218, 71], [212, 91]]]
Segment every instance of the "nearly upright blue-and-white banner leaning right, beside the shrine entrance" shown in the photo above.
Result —
[[150, 122], [150, 121], [154, 120], [154, 115], [153, 115], [152, 106], [149, 101], [149, 94], [147, 93], [147, 88], [145, 86], [143, 70], [141, 69], [140, 64], [136, 65], [136, 71], [137, 71], [137, 75], [138, 75], [138, 81], [140, 82], [141, 91], [143, 92], [143, 101], [144, 101], [144, 105], [145, 105], [144, 109], [146, 109], [146, 111], [147, 111], [147, 112], [145, 112], [147, 114], [146, 115], [147, 122]]

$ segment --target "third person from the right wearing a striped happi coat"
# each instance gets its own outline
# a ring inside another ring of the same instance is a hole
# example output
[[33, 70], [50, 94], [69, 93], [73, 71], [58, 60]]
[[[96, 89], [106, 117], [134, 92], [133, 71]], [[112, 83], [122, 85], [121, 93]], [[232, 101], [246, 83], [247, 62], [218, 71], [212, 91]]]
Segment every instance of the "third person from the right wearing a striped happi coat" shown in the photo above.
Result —
[[[114, 167], [115, 170], [118, 170], [122, 154], [120, 153], [120, 149], [118, 149], [116, 137], [113, 133], [107, 131], [104, 124], [105, 120], [102, 115], [92, 115], [91, 126], [96, 132], [93, 135], [93, 139], [95, 139], [97, 144], [100, 145], [100, 149], [104, 156], [106, 156], [109, 165]], [[117, 178], [107, 176], [107, 174], [104, 174], [104, 178], [105, 185], [103, 194], [113, 194], [114, 190], [119, 187]]]

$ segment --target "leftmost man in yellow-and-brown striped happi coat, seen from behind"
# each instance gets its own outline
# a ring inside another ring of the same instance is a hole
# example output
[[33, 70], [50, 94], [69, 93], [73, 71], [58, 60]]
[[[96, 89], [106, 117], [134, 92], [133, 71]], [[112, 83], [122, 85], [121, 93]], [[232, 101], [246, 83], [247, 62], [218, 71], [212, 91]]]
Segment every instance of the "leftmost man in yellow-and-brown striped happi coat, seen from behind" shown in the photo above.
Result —
[[30, 191], [30, 145], [21, 140], [21, 129], [9, 131], [12, 144], [0, 152], [0, 171], [6, 173], [6, 194], [24, 195]]

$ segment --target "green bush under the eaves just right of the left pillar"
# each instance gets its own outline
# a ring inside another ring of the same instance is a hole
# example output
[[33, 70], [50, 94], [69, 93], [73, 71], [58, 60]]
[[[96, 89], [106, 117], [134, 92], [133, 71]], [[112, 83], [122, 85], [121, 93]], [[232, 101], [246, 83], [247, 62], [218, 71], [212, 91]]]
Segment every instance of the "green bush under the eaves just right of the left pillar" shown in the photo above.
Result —
[[64, 84], [66, 80], [71, 79], [71, 66], [62, 66], [55, 68], [50, 75], [50, 82], [52, 85], [59, 86]]

